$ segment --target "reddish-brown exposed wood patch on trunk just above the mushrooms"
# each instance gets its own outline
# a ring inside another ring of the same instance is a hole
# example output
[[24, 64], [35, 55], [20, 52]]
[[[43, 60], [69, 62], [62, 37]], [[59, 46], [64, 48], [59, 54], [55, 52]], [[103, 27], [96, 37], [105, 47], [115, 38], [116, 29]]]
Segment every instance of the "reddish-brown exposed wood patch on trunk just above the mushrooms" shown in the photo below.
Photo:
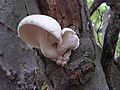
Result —
[[42, 14], [54, 17], [63, 27], [80, 26], [80, 7], [77, 0], [38, 0]]

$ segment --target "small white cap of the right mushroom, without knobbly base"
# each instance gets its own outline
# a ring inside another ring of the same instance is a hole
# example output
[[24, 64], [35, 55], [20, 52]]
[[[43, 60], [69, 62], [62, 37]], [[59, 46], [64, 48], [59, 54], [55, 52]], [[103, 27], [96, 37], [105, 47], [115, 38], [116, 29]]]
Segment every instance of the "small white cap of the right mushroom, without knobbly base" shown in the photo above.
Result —
[[79, 46], [79, 38], [70, 28], [62, 30], [62, 44], [58, 47], [59, 54], [64, 54], [68, 49], [75, 50]]

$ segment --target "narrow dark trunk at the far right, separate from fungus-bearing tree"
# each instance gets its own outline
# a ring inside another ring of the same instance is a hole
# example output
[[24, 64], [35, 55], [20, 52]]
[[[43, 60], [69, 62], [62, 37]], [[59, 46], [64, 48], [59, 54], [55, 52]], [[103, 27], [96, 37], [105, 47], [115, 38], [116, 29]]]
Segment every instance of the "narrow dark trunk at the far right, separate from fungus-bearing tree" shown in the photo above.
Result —
[[101, 63], [106, 75], [110, 90], [120, 89], [120, 72], [113, 64], [116, 43], [120, 32], [120, 0], [106, 0], [110, 6], [111, 14], [108, 27], [105, 32]]

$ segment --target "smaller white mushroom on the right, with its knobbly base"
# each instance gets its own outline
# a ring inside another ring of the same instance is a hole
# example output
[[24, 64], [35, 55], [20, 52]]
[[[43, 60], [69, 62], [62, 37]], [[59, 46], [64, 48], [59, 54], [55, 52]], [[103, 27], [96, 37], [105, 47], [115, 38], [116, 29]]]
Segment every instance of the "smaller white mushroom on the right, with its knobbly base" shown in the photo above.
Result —
[[71, 50], [75, 50], [79, 46], [79, 38], [70, 28], [62, 30], [62, 44], [58, 47], [58, 53], [63, 55], [63, 60], [57, 62], [62, 66], [66, 65], [71, 55]]

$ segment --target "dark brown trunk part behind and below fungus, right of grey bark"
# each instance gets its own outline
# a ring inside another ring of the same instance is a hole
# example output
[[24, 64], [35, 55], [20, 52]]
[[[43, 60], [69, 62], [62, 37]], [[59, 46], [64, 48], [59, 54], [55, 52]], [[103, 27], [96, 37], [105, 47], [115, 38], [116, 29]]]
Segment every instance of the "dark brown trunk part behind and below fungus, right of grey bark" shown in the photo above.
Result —
[[[39, 4], [42, 14], [54, 17], [62, 28], [71, 27], [80, 38], [80, 46], [72, 52], [70, 62], [65, 68], [46, 59], [38, 50], [38, 56], [42, 57], [45, 66], [50, 90], [53, 88], [55, 90], [107, 90], [100, 62], [95, 59], [96, 46], [86, 2], [84, 0], [39, 0]], [[94, 64], [97, 64], [95, 71]]]

